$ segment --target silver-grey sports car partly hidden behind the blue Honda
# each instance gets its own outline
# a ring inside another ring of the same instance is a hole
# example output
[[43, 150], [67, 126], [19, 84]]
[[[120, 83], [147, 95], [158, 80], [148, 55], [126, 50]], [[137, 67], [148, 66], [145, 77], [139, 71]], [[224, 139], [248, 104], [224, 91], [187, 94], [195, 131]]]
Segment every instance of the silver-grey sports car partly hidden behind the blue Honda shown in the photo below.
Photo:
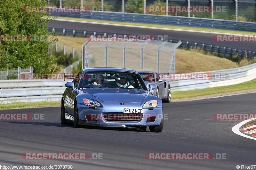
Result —
[[139, 73], [147, 87], [149, 83], [156, 85], [156, 90], [153, 90], [152, 94], [161, 98], [164, 102], [171, 102], [171, 86], [167, 80], [160, 79], [154, 71], [139, 71]]

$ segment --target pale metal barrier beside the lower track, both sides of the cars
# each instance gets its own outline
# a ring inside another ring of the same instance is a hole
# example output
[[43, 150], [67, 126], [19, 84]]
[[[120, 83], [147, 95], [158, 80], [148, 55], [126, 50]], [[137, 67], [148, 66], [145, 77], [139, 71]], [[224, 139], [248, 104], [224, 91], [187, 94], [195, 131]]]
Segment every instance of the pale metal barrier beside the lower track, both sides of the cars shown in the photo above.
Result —
[[[244, 67], [225, 70], [214, 70], [209, 73], [212, 79], [207, 80], [177, 80], [169, 81], [171, 90], [186, 91], [235, 85], [256, 78], [256, 63]], [[214, 75], [225, 73], [228, 79], [214, 80]], [[71, 81], [69, 79], [68, 81]], [[13, 102], [60, 101], [65, 90], [63, 80], [0, 80], [0, 104]], [[27, 88], [25, 88], [27, 87]]]

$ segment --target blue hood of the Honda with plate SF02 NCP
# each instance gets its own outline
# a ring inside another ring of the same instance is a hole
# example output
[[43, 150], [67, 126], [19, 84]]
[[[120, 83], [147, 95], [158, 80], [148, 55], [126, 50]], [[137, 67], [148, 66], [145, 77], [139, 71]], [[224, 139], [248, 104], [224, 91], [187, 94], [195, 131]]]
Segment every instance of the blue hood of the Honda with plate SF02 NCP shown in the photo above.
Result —
[[86, 93], [100, 99], [103, 102], [134, 102], [141, 103], [145, 98], [146, 90], [140, 89], [84, 89]]

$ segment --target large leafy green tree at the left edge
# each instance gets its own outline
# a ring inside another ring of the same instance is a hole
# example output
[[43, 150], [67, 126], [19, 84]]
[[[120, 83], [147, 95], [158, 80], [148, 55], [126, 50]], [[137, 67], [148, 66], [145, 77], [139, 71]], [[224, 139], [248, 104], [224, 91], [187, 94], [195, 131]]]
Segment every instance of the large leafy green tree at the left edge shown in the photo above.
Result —
[[[48, 13], [26, 12], [26, 6], [46, 6], [46, 1], [12, 0], [0, 3], [0, 70], [33, 66], [35, 73], [51, 73], [57, 60], [56, 56], [48, 53], [49, 45], [55, 41], [48, 40], [47, 24], [51, 19]], [[5, 35], [27, 35], [27, 41], [6, 41]], [[40, 37], [40, 41], [30, 41], [29, 37]]]

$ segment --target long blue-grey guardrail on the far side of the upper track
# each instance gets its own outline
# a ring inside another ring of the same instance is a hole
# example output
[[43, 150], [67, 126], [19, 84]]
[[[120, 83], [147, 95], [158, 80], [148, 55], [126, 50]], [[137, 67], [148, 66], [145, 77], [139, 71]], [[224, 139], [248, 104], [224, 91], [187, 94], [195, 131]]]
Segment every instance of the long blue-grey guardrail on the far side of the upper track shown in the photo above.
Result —
[[60, 17], [73, 17], [73, 18], [86, 18], [98, 19], [106, 21], [119, 21], [119, 22], [133, 22], [133, 23], [147, 23], [147, 24], [161, 24], [161, 25], [174, 25], [174, 26], [193, 26], [202, 28], [216, 28], [237, 31], [256, 31], [256, 23], [231, 21], [223, 19], [209, 19], [209, 18], [193, 18], [193, 17], [180, 17], [180, 16], [166, 16], [166, 15], [153, 15], [153, 14], [136, 14], [136, 13], [121, 13], [121, 12], [101, 12], [101, 11], [88, 11], [81, 13], [50, 13], [51, 16]]

